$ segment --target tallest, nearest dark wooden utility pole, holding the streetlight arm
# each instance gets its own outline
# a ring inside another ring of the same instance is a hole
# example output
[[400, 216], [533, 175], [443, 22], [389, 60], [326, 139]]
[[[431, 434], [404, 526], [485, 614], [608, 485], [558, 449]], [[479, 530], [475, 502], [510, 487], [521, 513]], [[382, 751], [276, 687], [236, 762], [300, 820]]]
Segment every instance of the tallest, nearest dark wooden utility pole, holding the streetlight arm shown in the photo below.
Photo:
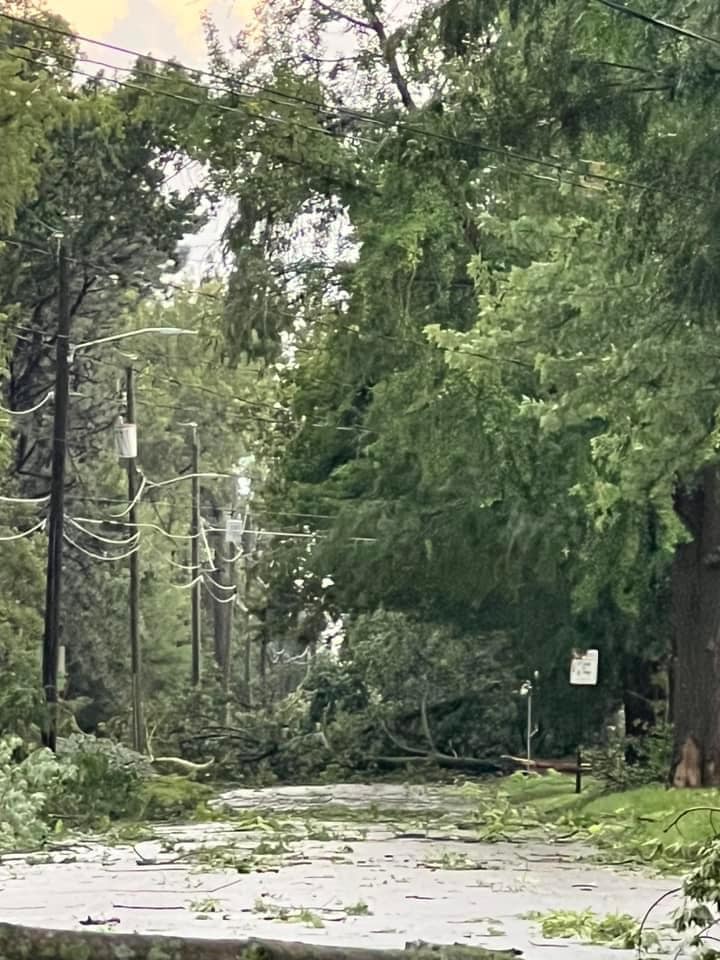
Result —
[[65, 460], [68, 427], [70, 290], [67, 247], [58, 253], [58, 328], [55, 343], [55, 413], [53, 416], [50, 516], [48, 524], [47, 575], [45, 581], [45, 630], [42, 649], [42, 682], [47, 704], [43, 743], [57, 747], [58, 652], [60, 601], [62, 596], [63, 528], [65, 525]]

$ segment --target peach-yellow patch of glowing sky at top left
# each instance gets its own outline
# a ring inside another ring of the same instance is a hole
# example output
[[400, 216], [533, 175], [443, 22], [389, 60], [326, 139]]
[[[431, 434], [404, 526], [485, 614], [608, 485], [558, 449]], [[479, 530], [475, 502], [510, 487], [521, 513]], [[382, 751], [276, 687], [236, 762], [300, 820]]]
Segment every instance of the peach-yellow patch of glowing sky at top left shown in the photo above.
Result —
[[47, 0], [79, 33], [114, 41], [141, 53], [202, 57], [200, 23], [209, 9], [223, 33], [247, 24], [257, 0]]

